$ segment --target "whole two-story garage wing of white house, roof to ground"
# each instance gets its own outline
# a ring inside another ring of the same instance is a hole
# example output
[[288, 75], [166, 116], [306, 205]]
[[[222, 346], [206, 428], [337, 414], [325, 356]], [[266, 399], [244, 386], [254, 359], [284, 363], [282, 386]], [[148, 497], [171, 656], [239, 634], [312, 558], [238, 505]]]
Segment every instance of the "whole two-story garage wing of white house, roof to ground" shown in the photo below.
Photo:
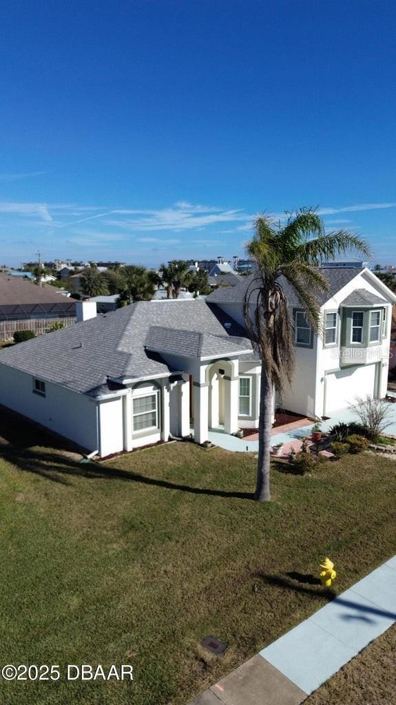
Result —
[[[309, 328], [301, 304], [286, 281], [283, 287], [295, 323], [295, 379], [282, 406], [309, 417], [330, 416], [357, 396], [385, 396], [388, 381], [392, 304], [396, 296], [369, 269], [321, 269], [328, 293], [320, 293], [323, 335]], [[240, 324], [247, 286], [254, 274], [232, 288], [209, 295]]]

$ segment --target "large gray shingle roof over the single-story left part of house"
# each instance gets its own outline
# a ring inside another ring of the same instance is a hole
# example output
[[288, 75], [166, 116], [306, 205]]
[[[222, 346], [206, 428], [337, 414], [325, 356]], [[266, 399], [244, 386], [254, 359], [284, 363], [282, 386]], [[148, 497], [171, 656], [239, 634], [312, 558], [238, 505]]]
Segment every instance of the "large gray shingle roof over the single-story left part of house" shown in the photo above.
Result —
[[[225, 322], [231, 324], [227, 329]], [[230, 338], [245, 335], [239, 324], [204, 300], [142, 301], [1, 350], [0, 363], [98, 396], [111, 391], [108, 376], [138, 379], [174, 371], [161, 355], [145, 350], [151, 326]]]

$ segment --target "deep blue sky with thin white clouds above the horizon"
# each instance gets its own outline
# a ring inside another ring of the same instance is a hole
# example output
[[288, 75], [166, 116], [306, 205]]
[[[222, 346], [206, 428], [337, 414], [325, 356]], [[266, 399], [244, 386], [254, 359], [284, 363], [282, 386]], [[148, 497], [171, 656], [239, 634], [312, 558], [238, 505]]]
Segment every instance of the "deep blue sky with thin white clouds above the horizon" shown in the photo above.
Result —
[[2, 8], [1, 264], [242, 255], [302, 205], [396, 264], [394, 2]]

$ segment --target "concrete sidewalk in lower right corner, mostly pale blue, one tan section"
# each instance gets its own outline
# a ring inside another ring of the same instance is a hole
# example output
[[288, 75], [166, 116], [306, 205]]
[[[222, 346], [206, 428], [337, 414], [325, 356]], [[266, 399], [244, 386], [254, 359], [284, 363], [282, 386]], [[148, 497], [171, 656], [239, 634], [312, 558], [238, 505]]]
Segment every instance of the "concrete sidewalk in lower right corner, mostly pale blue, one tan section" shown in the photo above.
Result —
[[396, 556], [190, 705], [298, 705], [396, 621]]

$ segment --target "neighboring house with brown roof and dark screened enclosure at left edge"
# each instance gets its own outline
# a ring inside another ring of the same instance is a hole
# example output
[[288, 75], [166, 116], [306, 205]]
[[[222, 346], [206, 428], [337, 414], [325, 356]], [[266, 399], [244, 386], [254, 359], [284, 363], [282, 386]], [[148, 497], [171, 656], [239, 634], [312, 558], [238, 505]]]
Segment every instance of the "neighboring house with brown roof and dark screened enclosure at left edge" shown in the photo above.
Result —
[[21, 329], [44, 332], [48, 321], [75, 322], [75, 300], [54, 286], [37, 286], [20, 276], [0, 274], [0, 340]]

